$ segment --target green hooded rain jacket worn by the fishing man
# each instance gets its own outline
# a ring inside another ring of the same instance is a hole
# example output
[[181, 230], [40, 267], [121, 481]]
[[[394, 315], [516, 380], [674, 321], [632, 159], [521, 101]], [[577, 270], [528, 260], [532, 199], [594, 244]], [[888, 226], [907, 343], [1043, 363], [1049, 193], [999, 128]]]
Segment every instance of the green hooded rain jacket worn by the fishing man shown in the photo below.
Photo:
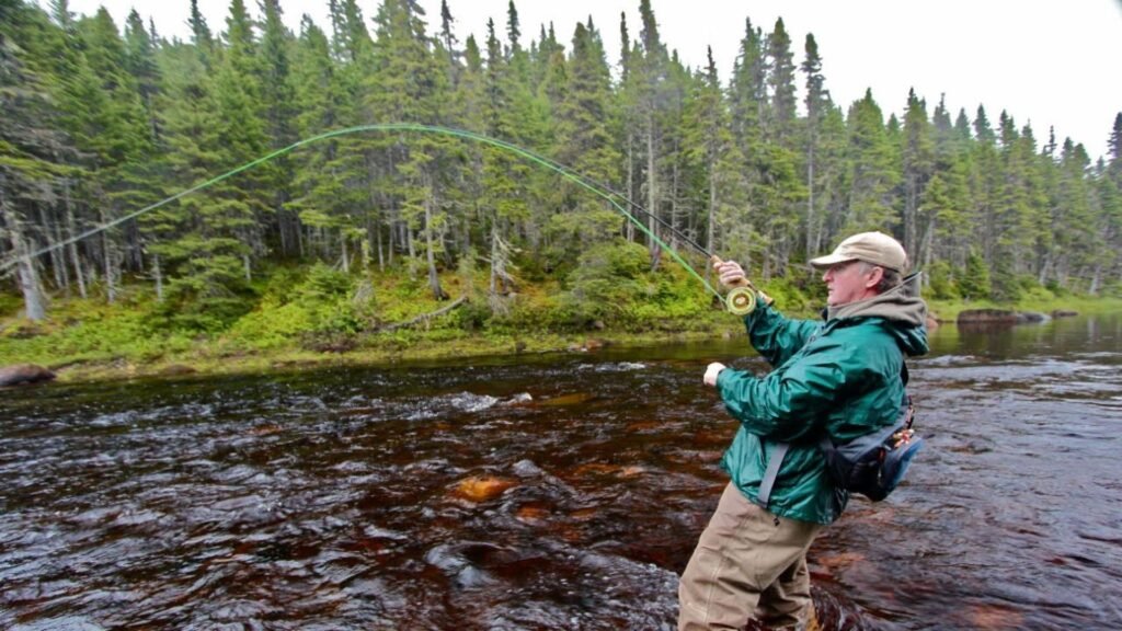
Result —
[[904, 400], [904, 355], [927, 353], [927, 304], [919, 274], [874, 298], [830, 308], [825, 321], [789, 320], [763, 304], [744, 317], [752, 346], [773, 369], [764, 377], [726, 368], [717, 390], [741, 422], [721, 467], [756, 501], [776, 442], [790, 450], [767, 510], [828, 524], [848, 492], [834, 485], [818, 440], [844, 442], [896, 419]]

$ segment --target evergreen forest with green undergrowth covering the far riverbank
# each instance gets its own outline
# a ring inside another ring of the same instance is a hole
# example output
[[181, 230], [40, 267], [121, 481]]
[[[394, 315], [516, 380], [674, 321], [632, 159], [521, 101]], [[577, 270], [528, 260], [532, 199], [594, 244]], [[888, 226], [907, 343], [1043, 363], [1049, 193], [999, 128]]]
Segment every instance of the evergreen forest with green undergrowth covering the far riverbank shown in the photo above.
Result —
[[1122, 113], [1093, 159], [1008, 110], [839, 104], [812, 35], [797, 65], [782, 20], [746, 20], [720, 77], [711, 56], [683, 66], [638, 4], [609, 52], [591, 19], [524, 36], [513, 2], [505, 29], [461, 43], [447, 2], [430, 25], [413, 2], [371, 21], [341, 0], [330, 28], [292, 33], [277, 0], [259, 21], [231, 0], [215, 33], [192, 1], [182, 42], [136, 11], [120, 28], [0, 0], [0, 364], [712, 335], [738, 324], [672, 254], [701, 274], [701, 250], [737, 259], [810, 313], [804, 262], [871, 229], [904, 244], [940, 311], [1122, 292]]

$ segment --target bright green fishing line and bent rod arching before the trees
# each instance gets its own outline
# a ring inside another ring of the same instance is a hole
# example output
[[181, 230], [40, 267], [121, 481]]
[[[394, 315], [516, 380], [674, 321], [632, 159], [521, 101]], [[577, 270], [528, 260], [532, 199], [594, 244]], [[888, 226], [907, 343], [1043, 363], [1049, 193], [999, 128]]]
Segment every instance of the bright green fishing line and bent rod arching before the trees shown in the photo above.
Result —
[[557, 162], [554, 162], [554, 161], [552, 161], [552, 159], [550, 159], [548, 157], [544, 157], [542, 155], [535, 154], [534, 152], [531, 152], [530, 149], [525, 149], [523, 147], [519, 147], [517, 145], [513, 145], [513, 144], [507, 143], [505, 140], [499, 140], [499, 139], [496, 139], [496, 138], [491, 138], [489, 136], [484, 136], [481, 134], [476, 134], [476, 132], [472, 132], [472, 131], [466, 131], [466, 130], [462, 130], [462, 129], [454, 129], [454, 128], [450, 128], [450, 127], [441, 127], [441, 126], [435, 126], [435, 125], [412, 124], [412, 122], [392, 122], [392, 124], [381, 124], [381, 125], [359, 125], [359, 126], [356, 126], [356, 127], [347, 127], [347, 128], [343, 128], [343, 129], [335, 129], [335, 130], [332, 130], [332, 131], [325, 131], [323, 134], [319, 134], [319, 135], [312, 136], [310, 138], [304, 138], [302, 140], [293, 143], [292, 145], [288, 145], [287, 147], [277, 149], [277, 150], [272, 152], [269, 154], [266, 154], [266, 155], [264, 155], [264, 156], [261, 156], [261, 157], [259, 157], [257, 159], [248, 162], [248, 163], [246, 163], [246, 164], [243, 164], [243, 165], [241, 165], [241, 166], [239, 166], [237, 168], [228, 171], [228, 172], [226, 172], [226, 173], [223, 173], [223, 174], [221, 174], [221, 175], [219, 175], [217, 177], [212, 177], [212, 179], [206, 180], [206, 181], [204, 181], [204, 182], [202, 182], [200, 184], [195, 184], [194, 186], [191, 186], [190, 189], [185, 189], [185, 190], [183, 190], [183, 191], [181, 191], [181, 192], [178, 192], [178, 193], [176, 193], [176, 194], [174, 194], [174, 195], [172, 195], [172, 196], [169, 196], [167, 199], [164, 199], [164, 200], [160, 200], [160, 201], [158, 201], [156, 203], [146, 205], [146, 207], [141, 208], [140, 210], [130, 212], [128, 214], [119, 217], [119, 218], [117, 218], [117, 219], [114, 219], [112, 221], [109, 221], [107, 223], [102, 223], [102, 225], [95, 226], [94, 228], [85, 230], [85, 231], [83, 231], [83, 232], [81, 232], [81, 234], [79, 234], [79, 235], [76, 235], [74, 237], [71, 237], [71, 238], [65, 239], [63, 241], [59, 241], [59, 243], [56, 243], [54, 245], [47, 246], [45, 248], [40, 248], [40, 249], [34, 250], [34, 252], [31, 252], [29, 254], [26, 254], [26, 255], [22, 255], [22, 256], [13, 256], [9, 260], [6, 260], [2, 264], [0, 264], [0, 272], [4, 272], [4, 271], [7, 271], [7, 269], [9, 269], [9, 268], [11, 268], [13, 266], [16, 266], [19, 263], [19, 259], [21, 259], [24, 257], [35, 258], [35, 257], [38, 257], [40, 255], [47, 254], [49, 252], [53, 252], [53, 250], [66, 247], [66, 246], [68, 246], [71, 244], [74, 244], [74, 243], [77, 243], [77, 241], [80, 241], [82, 239], [92, 237], [94, 235], [98, 235], [100, 232], [109, 230], [110, 228], [119, 226], [119, 225], [121, 225], [121, 223], [123, 223], [126, 221], [129, 221], [131, 219], [136, 219], [137, 217], [140, 217], [141, 214], [145, 214], [146, 212], [150, 212], [153, 210], [156, 210], [157, 208], [164, 207], [164, 205], [166, 205], [168, 203], [172, 203], [173, 201], [176, 201], [176, 200], [178, 200], [181, 198], [190, 195], [191, 193], [194, 193], [194, 192], [201, 191], [203, 189], [210, 188], [210, 186], [212, 186], [214, 184], [218, 184], [219, 182], [222, 182], [223, 180], [232, 177], [232, 176], [234, 176], [234, 175], [237, 175], [237, 174], [239, 174], [239, 173], [241, 173], [243, 171], [248, 171], [248, 170], [250, 170], [250, 168], [252, 168], [252, 167], [255, 167], [255, 166], [257, 166], [259, 164], [264, 164], [266, 162], [269, 162], [269, 161], [272, 161], [272, 159], [274, 159], [276, 157], [279, 157], [279, 156], [282, 156], [284, 154], [287, 154], [288, 152], [292, 152], [292, 150], [295, 150], [295, 149], [297, 149], [300, 147], [303, 147], [304, 145], [310, 145], [312, 143], [316, 143], [316, 141], [320, 141], [320, 140], [325, 140], [328, 138], [335, 138], [335, 137], [339, 137], [339, 136], [346, 136], [346, 135], [350, 135], [350, 134], [358, 134], [358, 132], [361, 132], [361, 131], [415, 131], [415, 132], [422, 132], [422, 134], [436, 134], [436, 135], [451, 136], [451, 137], [457, 137], [457, 138], [462, 138], [462, 139], [468, 139], [468, 140], [475, 140], [475, 141], [478, 141], [478, 143], [482, 143], [482, 144], [486, 144], [486, 145], [491, 145], [494, 147], [506, 149], [506, 150], [508, 150], [511, 153], [514, 153], [514, 154], [516, 154], [518, 156], [522, 156], [523, 158], [525, 158], [527, 161], [531, 161], [531, 162], [537, 164], [539, 166], [544, 166], [544, 167], [549, 168], [550, 171], [553, 171], [554, 173], [560, 174], [564, 179], [567, 179], [567, 180], [569, 180], [569, 181], [571, 181], [571, 182], [573, 182], [573, 183], [576, 183], [578, 185], [580, 185], [581, 188], [586, 189], [587, 191], [589, 191], [589, 192], [596, 194], [597, 196], [604, 199], [605, 201], [607, 201], [617, 211], [619, 211], [624, 217], [626, 217], [627, 220], [629, 220], [632, 223], [634, 223], [643, 234], [645, 234], [646, 236], [649, 236], [655, 244], [657, 244], [662, 249], [664, 249], [666, 253], [669, 253], [670, 256], [679, 265], [681, 265], [687, 272], [690, 273], [690, 275], [692, 275], [695, 278], [697, 278], [710, 293], [712, 293], [714, 295], [716, 295], [718, 298], [721, 298], [720, 292], [718, 292], [717, 290], [715, 290], [712, 287], [712, 285], [710, 285], [703, 277], [701, 277], [701, 275], [698, 274], [698, 272], [696, 269], [693, 269], [693, 267], [690, 266], [690, 264], [687, 263], [678, 254], [677, 250], [674, 250], [674, 248], [672, 248], [669, 245], [666, 245], [662, 239], [659, 238], [657, 235], [655, 235], [652, 230], [650, 230], [646, 226], [644, 226], [642, 221], [640, 221], [638, 219], [636, 219], [635, 216], [633, 216], [631, 212], [628, 212], [626, 209], [624, 209], [622, 205], [619, 205], [619, 203], [616, 201], [615, 198], [618, 198], [618, 199], [625, 201], [633, 209], [638, 210], [642, 213], [644, 213], [645, 216], [654, 219], [655, 221], [657, 221], [659, 223], [661, 223], [662, 226], [664, 226], [666, 229], [671, 230], [678, 238], [682, 239], [683, 241], [686, 241], [687, 244], [689, 244], [691, 247], [696, 248], [698, 252], [700, 252], [702, 254], [706, 254], [706, 255], [708, 255], [710, 257], [712, 255], [708, 250], [706, 250], [705, 248], [702, 248], [701, 246], [699, 246], [697, 243], [695, 243], [692, 239], [690, 239], [686, 235], [683, 235], [680, 230], [675, 229], [673, 226], [671, 226], [668, 222], [665, 222], [662, 218], [660, 218], [660, 217], [651, 213], [650, 211], [647, 211], [643, 207], [638, 205], [634, 201], [629, 200], [625, 195], [622, 195], [622, 194], [613, 191], [611, 189], [609, 189], [609, 188], [607, 188], [607, 186], [605, 186], [605, 185], [596, 182], [591, 177], [588, 177], [587, 175], [578, 173], [578, 172], [573, 171], [572, 168], [569, 168], [568, 166], [559, 164], [559, 163], [557, 163]]

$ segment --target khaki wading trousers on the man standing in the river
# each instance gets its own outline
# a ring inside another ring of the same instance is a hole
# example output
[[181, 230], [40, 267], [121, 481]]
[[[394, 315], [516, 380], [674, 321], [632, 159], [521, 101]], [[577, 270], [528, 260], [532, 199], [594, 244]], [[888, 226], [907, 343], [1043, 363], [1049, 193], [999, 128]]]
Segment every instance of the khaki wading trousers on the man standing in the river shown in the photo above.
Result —
[[776, 516], [729, 483], [682, 573], [679, 631], [812, 623], [807, 549], [821, 529]]

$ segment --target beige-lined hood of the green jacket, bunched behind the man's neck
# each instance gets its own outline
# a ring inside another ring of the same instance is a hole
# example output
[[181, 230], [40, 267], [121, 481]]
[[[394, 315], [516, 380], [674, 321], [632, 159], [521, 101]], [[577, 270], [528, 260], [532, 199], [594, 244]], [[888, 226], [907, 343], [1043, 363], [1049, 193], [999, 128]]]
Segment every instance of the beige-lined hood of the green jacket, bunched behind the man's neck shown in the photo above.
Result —
[[927, 353], [927, 302], [919, 296], [920, 273], [907, 276], [895, 287], [866, 300], [829, 307], [826, 320], [882, 318], [891, 326], [900, 348], [908, 355]]

